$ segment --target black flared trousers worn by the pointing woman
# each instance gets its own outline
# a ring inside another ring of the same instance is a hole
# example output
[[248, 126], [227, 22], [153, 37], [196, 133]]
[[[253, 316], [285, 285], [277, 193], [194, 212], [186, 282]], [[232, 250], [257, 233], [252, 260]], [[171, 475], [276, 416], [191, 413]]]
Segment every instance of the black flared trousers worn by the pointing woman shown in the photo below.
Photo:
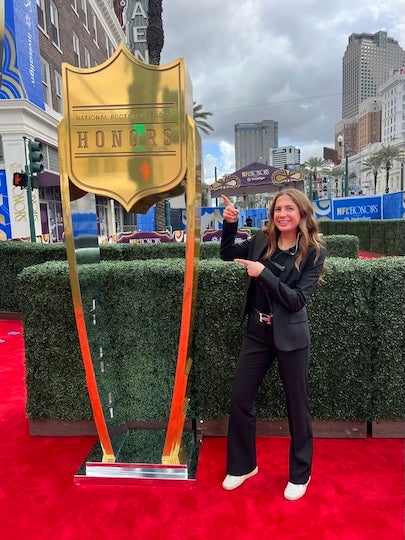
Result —
[[227, 473], [240, 476], [256, 467], [256, 397], [275, 358], [284, 388], [291, 436], [289, 480], [305, 484], [311, 474], [313, 451], [308, 401], [309, 349], [277, 350], [273, 327], [252, 318], [243, 339], [232, 387]]

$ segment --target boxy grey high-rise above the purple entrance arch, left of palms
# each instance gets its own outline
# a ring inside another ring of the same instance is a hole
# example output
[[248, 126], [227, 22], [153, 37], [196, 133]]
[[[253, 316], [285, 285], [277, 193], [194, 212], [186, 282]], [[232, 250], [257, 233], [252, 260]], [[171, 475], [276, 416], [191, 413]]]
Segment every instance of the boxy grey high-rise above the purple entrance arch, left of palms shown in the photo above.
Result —
[[278, 148], [278, 122], [262, 120], [235, 124], [237, 170], [255, 162], [267, 163], [270, 148]]

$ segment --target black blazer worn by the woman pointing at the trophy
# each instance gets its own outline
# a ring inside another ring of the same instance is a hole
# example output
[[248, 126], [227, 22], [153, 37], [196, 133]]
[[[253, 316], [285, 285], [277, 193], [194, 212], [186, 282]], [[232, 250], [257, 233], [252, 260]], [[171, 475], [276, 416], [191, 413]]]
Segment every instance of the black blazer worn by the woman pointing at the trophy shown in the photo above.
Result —
[[[258, 261], [268, 248], [267, 237], [258, 231], [251, 239], [235, 244], [237, 223], [224, 221], [220, 257], [224, 261], [248, 259]], [[277, 277], [267, 267], [257, 279], [268, 292], [273, 304], [274, 343], [282, 351], [302, 349], [310, 345], [310, 333], [306, 301], [321, 275], [326, 249], [321, 246], [315, 262], [315, 248], [310, 246], [307, 256], [301, 261], [300, 271], [294, 266], [296, 256], [288, 257], [284, 270]], [[252, 279], [247, 276], [242, 303], [242, 319], [249, 305]]]

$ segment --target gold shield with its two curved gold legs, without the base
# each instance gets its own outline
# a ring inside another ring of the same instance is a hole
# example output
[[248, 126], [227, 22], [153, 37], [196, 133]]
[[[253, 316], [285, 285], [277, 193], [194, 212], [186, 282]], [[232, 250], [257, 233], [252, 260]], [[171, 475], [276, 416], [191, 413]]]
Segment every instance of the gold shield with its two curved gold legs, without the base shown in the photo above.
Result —
[[[151, 66], [120, 46], [104, 64], [79, 69], [63, 64], [65, 117], [59, 125], [61, 192], [73, 307], [86, 383], [102, 449], [102, 462], [117, 453], [109, 433], [108, 410], [94, 351], [95, 334], [86, 324], [96, 317], [97, 298], [79, 279], [72, 201], [86, 194], [115, 199], [127, 211], [146, 212], [159, 199], [187, 190], [187, 244], [182, 317], [172, 404], [161, 461], [185, 464], [183, 429], [192, 360], [197, 293], [201, 206], [201, 139], [192, 116], [191, 83], [184, 61]], [[80, 205], [79, 205], [80, 206]], [[95, 204], [94, 204], [95, 206]], [[86, 213], [86, 212], [85, 212]], [[88, 238], [82, 238], [82, 243]], [[79, 246], [88, 254], [89, 246]], [[89, 308], [90, 305], [90, 308]], [[93, 308], [92, 308], [93, 306]], [[100, 349], [100, 348], [99, 348]], [[111, 471], [110, 471], [111, 472]], [[106, 473], [107, 474], [107, 473]]]

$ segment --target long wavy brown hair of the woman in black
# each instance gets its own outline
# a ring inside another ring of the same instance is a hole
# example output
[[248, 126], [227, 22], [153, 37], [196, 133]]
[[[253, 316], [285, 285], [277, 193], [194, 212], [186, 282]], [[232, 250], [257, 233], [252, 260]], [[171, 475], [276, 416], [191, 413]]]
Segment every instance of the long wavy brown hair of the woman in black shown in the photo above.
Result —
[[277, 242], [280, 236], [280, 231], [274, 224], [274, 209], [277, 203], [277, 199], [281, 195], [288, 195], [291, 200], [298, 206], [301, 219], [298, 224], [298, 233], [299, 233], [299, 242], [298, 242], [298, 255], [295, 259], [295, 267], [299, 270], [301, 261], [306, 257], [308, 253], [309, 246], [314, 246], [316, 251], [315, 261], [318, 259], [320, 254], [320, 246], [324, 245], [325, 242], [322, 240], [319, 235], [319, 226], [316, 221], [314, 210], [311, 205], [311, 201], [302, 193], [295, 188], [286, 188], [282, 189], [274, 197], [273, 202], [271, 203], [270, 213], [269, 213], [269, 222], [267, 227], [264, 229], [264, 233], [268, 238], [269, 247], [264, 255], [264, 258], [267, 259], [271, 257], [277, 249]]

